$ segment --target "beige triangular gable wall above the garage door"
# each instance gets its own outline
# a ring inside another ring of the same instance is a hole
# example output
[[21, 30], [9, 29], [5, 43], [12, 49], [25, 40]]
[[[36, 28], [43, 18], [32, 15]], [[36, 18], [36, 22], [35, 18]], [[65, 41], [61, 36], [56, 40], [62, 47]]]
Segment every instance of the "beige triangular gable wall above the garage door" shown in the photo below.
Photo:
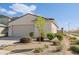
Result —
[[23, 24], [33, 24], [33, 20], [36, 19], [36, 16], [27, 14], [17, 18], [15, 21], [9, 23], [9, 25], [23, 25]]

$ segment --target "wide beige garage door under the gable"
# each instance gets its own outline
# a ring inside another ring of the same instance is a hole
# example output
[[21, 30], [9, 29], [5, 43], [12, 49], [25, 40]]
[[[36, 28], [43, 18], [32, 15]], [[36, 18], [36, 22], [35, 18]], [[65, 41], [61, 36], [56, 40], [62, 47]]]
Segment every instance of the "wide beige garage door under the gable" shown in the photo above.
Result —
[[29, 36], [29, 33], [33, 31], [33, 25], [17, 25], [12, 27], [13, 36]]

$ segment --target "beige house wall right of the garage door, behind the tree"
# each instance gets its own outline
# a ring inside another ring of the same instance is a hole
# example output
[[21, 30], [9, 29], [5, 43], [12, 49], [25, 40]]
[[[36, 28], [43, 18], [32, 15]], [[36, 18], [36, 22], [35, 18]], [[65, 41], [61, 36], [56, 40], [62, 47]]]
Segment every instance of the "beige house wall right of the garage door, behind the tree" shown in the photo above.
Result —
[[[39, 31], [37, 28], [35, 28], [34, 32], [35, 32], [35, 37], [38, 37]], [[53, 22], [46, 21], [46, 25], [44, 27], [44, 32], [45, 32], [45, 37], [47, 36], [47, 33], [49, 33], [49, 32], [57, 33], [57, 27]]]

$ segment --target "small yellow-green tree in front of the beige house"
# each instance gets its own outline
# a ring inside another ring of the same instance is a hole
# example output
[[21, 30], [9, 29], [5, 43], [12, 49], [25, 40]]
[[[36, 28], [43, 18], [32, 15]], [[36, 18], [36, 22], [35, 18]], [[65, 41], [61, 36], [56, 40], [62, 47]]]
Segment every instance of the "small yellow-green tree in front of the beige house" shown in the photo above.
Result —
[[40, 37], [43, 37], [43, 38], [45, 36], [44, 34], [45, 24], [46, 24], [45, 19], [41, 16], [38, 16], [37, 20], [35, 21], [35, 27], [38, 29]]

